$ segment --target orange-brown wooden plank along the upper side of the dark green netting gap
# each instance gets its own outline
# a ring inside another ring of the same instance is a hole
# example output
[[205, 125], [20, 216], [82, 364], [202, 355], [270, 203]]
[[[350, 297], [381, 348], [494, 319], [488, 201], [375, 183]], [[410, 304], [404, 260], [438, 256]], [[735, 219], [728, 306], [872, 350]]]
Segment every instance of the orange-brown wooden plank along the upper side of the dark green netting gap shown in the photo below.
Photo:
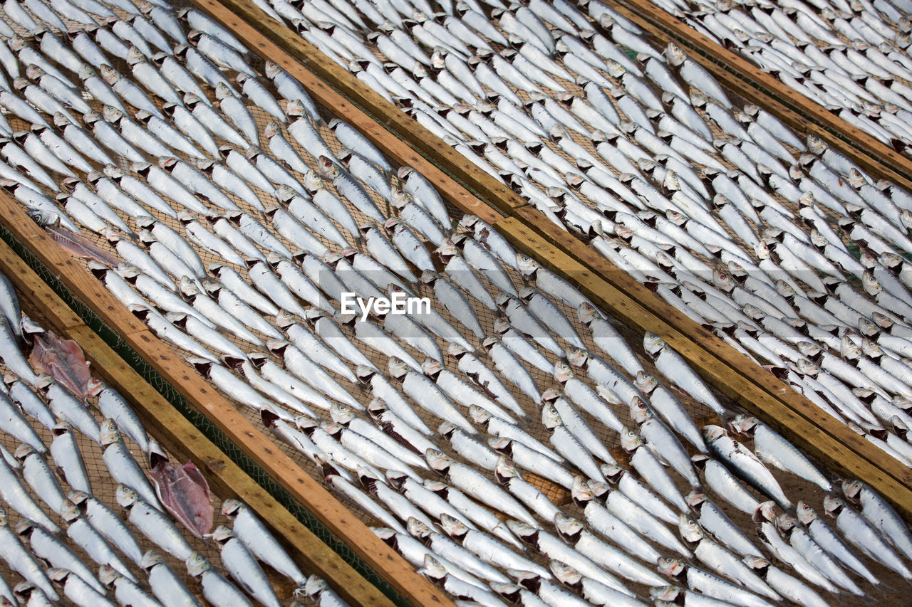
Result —
[[[202, 412], [212, 423], [263, 468], [280, 486], [288, 491], [303, 507], [310, 510], [340, 540], [354, 550], [361, 559], [377, 571], [409, 602], [415, 605], [441, 605], [453, 603], [430, 581], [392, 550], [358, 520], [322, 485], [311, 478], [295, 461], [278, 448], [272, 440], [241, 414], [225, 397], [220, 395], [199, 376], [190, 365], [182, 361], [158, 337], [127, 312], [113, 295], [95, 280], [88, 270], [72, 262], [68, 253], [23, 211], [8, 194], [0, 194], [0, 221], [19, 242], [26, 243], [37, 258], [54, 268], [60, 280], [74, 294], [78, 293], [84, 304], [98, 314], [109, 327], [120, 334], [133, 350], [152, 366], [171, 386], [174, 386], [193, 408]], [[93, 284], [94, 283], [94, 284]], [[118, 322], [130, 320], [127, 326]]]

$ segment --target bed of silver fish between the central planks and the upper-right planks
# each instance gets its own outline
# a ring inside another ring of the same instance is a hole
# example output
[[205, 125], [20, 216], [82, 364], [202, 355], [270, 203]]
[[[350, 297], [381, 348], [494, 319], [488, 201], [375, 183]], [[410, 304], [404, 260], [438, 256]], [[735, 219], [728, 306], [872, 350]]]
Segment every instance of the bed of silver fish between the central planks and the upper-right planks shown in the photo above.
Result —
[[[909, 464], [908, 193], [762, 108], [733, 106], [679, 48], [659, 53], [606, 5], [492, 5], [490, 22], [471, 5], [431, 19], [422, 3], [280, 14], [549, 219]], [[367, 21], [353, 23], [358, 12]], [[845, 241], [863, 246], [860, 259]]]

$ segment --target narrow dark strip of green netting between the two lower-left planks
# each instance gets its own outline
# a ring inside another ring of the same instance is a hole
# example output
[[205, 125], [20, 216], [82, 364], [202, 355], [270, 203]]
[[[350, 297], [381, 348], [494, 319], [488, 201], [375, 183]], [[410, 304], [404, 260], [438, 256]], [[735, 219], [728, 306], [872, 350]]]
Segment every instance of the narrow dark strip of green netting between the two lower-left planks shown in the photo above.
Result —
[[113, 331], [107, 324], [104, 324], [98, 317], [98, 314], [82, 302], [74, 293], [67, 289], [67, 286], [59, 279], [56, 273], [47, 268], [39, 260], [35, 253], [31, 252], [22, 242], [16, 239], [13, 233], [6, 229], [0, 223], [0, 238], [2, 238], [23, 261], [43, 280], [51, 289], [82, 319], [82, 321], [92, 329], [104, 342], [109, 345], [123, 360], [130, 365], [137, 373], [142, 376], [150, 386], [155, 388], [174, 408], [181, 412], [202, 434], [209, 438], [212, 443], [220, 448], [222, 452], [244, 472], [253, 478], [254, 481], [262, 487], [267, 493], [273, 496], [285, 509], [287, 509], [307, 529], [314, 532], [316, 537], [322, 540], [326, 545], [334, 550], [343, 560], [351, 565], [355, 571], [373, 584], [380, 592], [383, 592], [390, 601], [405, 607], [409, 602], [397, 592], [389, 582], [385, 581], [376, 571], [371, 569], [354, 550], [351, 550], [345, 542], [339, 540], [335, 534], [326, 529], [309, 510], [301, 506], [285, 489], [269, 476], [266, 471], [258, 466], [254, 460], [248, 457], [241, 448], [234, 444], [233, 440], [216, 427], [212, 421], [202, 413], [194, 409], [187, 403], [187, 399], [171, 385], [165, 381], [154, 368], [152, 368], [139, 354], [133, 350], [130, 345]]

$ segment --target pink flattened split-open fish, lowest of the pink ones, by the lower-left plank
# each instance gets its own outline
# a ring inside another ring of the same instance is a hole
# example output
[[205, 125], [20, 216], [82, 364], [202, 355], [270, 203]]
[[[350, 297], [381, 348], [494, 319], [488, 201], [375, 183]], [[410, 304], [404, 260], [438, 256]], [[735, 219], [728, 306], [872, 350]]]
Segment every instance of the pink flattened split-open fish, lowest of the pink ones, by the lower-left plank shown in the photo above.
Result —
[[174, 468], [157, 445], [150, 445], [149, 459], [152, 467], [149, 475], [161, 505], [197, 538], [209, 533], [214, 511], [209, 484], [200, 468], [190, 461]]

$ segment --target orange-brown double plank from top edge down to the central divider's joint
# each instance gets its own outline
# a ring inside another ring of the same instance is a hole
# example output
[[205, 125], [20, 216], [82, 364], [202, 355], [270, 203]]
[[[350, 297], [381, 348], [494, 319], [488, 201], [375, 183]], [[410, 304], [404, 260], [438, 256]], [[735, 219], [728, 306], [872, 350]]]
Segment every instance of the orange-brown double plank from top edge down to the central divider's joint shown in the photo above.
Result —
[[[191, 4], [231, 29], [234, 36], [260, 57], [283, 67], [306, 87], [317, 103], [361, 131], [390, 159], [418, 170], [461, 211], [478, 215], [489, 223], [501, 217], [498, 211], [478, 200], [451, 176], [502, 210], [525, 204], [503, 183], [482, 170], [473, 170], [474, 165], [458, 151], [326, 58], [316, 46], [284, 25], [276, 25], [253, 2], [191, 0]], [[469, 170], [466, 165], [471, 165]]]

